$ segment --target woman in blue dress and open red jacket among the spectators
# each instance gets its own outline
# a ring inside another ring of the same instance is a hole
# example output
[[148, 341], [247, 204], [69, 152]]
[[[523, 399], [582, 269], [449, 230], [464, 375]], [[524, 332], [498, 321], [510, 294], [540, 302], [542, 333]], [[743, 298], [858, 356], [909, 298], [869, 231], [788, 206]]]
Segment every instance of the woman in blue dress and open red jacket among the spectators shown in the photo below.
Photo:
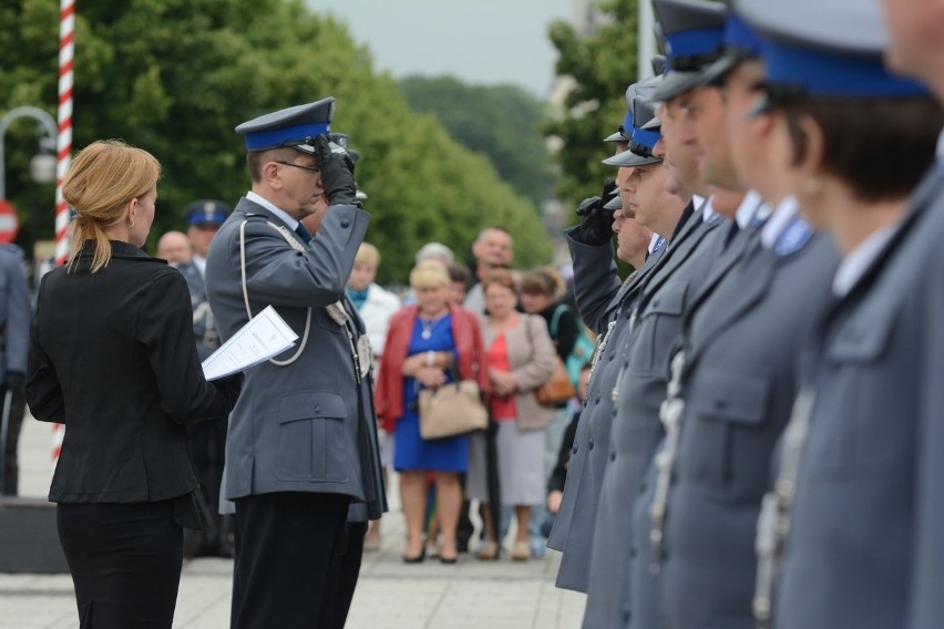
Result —
[[423, 522], [427, 477], [432, 473], [437, 491], [437, 518], [442, 534], [440, 559], [455, 561], [455, 528], [462, 506], [459, 474], [469, 461], [469, 436], [423, 440], [420, 436], [420, 390], [439, 386], [458, 372], [462, 380], [478, 380], [482, 333], [475, 316], [449, 303], [449, 274], [439, 262], [421, 262], [410, 274], [417, 303], [397, 312], [390, 321], [381, 358], [376, 401], [384, 430], [394, 432], [393, 467], [400, 473], [400, 498], [407, 519], [403, 560], [423, 559]]

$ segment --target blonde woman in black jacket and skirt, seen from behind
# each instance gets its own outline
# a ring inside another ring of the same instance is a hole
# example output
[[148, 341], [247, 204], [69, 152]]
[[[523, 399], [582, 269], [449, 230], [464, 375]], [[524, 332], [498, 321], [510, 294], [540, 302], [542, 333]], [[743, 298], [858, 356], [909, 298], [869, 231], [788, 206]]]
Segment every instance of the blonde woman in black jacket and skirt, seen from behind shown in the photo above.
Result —
[[121, 142], [83, 149], [62, 186], [70, 260], [39, 288], [27, 400], [66, 426], [49, 499], [83, 628], [171, 627], [182, 526], [199, 527], [184, 424], [238, 395], [239, 378], [203, 377], [184, 277], [141, 250], [160, 174]]

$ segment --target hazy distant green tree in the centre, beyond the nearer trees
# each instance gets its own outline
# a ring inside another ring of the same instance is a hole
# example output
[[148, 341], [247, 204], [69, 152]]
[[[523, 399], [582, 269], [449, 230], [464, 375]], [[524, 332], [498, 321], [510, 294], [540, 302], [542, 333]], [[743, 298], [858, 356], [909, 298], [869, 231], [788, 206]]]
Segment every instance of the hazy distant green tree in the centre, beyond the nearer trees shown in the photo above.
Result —
[[551, 185], [540, 131], [546, 104], [516, 85], [470, 85], [454, 76], [398, 81], [415, 112], [433, 113], [464, 147], [483, 153], [499, 175], [540, 207]]

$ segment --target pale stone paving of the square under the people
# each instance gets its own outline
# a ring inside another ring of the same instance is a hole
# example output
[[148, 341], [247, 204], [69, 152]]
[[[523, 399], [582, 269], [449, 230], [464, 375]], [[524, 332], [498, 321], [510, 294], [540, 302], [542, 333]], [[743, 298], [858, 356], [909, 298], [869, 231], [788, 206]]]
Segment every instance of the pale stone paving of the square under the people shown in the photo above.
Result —
[[[51, 477], [51, 429], [28, 417], [20, 440], [20, 493], [44, 496]], [[579, 627], [586, 597], [554, 587], [560, 555], [544, 559], [480, 561], [460, 556], [455, 565], [401, 560], [404, 525], [391, 483], [391, 513], [383, 542], [365, 555], [348, 617], [349, 629], [571, 629]], [[505, 554], [507, 557], [507, 553]], [[199, 558], [184, 566], [174, 627], [229, 626], [233, 561]], [[78, 626], [69, 575], [0, 574], [0, 629]]]

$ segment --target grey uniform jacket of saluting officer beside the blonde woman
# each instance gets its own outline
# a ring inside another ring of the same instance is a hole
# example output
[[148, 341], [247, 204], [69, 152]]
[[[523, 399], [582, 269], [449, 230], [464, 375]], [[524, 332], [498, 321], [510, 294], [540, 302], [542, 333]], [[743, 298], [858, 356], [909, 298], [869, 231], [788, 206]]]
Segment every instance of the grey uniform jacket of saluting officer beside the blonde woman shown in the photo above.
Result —
[[[224, 498], [332, 493], [362, 503], [351, 519], [374, 519], [386, 509], [372, 383], [369, 373], [359, 378], [348, 339], [349, 332], [357, 339], [365, 330], [343, 297], [369, 220], [358, 207], [335, 205], [307, 247], [300, 239], [293, 246], [288, 226], [243, 198], [214, 237], [206, 286], [220, 337], [228, 339], [248, 321], [239, 236], [246, 221], [245, 281], [253, 314], [271, 305], [299, 334], [296, 347], [276, 360], [291, 358], [304, 346], [289, 365], [267, 361], [246, 371], [229, 416]], [[346, 324], [326, 310], [339, 300]]]

